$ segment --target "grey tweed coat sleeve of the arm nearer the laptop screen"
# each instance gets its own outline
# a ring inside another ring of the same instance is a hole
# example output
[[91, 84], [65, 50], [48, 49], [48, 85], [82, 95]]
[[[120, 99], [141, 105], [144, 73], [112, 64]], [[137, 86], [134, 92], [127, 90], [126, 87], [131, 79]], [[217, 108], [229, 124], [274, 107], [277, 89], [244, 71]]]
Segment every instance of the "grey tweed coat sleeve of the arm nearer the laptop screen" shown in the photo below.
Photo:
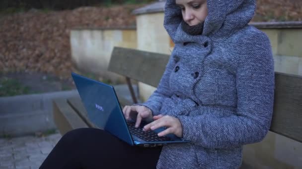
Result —
[[156, 90], [151, 94], [151, 96], [145, 103], [135, 105], [146, 106], [151, 109], [153, 116], [158, 115], [164, 99], [167, 97], [171, 97], [172, 95], [169, 86], [169, 77], [171, 71], [173, 71], [174, 69], [174, 66], [175, 61], [171, 55]]

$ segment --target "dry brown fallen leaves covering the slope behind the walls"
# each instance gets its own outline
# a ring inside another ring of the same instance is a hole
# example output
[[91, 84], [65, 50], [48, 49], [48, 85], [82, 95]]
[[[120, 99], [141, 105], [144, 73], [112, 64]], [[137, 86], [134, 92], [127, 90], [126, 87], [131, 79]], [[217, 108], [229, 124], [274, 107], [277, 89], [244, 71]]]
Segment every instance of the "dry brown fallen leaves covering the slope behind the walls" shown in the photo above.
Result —
[[[61, 78], [73, 69], [69, 33], [74, 27], [135, 25], [132, 10], [142, 5], [112, 8], [29, 11], [0, 17], [0, 71], [54, 73]], [[257, 0], [253, 21], [302, 21], [302, 0]]]

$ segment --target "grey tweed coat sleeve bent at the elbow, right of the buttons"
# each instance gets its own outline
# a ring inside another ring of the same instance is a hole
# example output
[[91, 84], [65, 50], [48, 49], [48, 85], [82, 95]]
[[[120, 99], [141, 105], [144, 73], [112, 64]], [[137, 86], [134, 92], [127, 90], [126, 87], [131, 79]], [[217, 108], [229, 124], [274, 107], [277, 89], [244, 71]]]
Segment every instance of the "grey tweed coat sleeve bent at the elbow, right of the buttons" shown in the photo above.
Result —
[[274, 63], [268, 38], [253, 38], [241, 45], [246, 48], [240, 47], [236, 114], [178, 116], [184, 139], [206, 148], [227, 148], [259, 142], [265, 137], [273, 113]]

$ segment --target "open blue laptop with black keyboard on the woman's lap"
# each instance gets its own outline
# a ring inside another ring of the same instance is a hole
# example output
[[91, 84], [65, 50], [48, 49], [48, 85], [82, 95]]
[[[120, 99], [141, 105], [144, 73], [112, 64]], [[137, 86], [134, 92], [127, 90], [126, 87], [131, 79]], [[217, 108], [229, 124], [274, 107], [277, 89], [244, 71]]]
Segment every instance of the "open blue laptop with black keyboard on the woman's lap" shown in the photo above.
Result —
[[142, 121], [140, 127], [134, 127], [136, 119], [126, 121], [112, 85], [89, 79], [74, 72], [72, 72], [72, 77], [87, 111], [88, 119], [96, 127], [108, 131], [130, 145], [142, 147], [189, 142], [174, 134], [157, 136], [157, 133], [163, 131], [165, 127], [143, 131], [143, 127], [148, 124], [145, 121]]

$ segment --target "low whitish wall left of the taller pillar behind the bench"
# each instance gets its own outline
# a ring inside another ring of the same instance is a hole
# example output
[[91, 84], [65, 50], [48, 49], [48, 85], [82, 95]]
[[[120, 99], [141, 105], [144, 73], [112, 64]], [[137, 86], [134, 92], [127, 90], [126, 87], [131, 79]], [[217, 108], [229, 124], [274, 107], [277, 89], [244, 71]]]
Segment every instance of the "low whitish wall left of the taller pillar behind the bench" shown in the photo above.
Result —
[[116, 81], [120, 76], [107, 71], [114, 46], [137, 48], [135, 29], [73, 29], [72, 59], [79, 70]]

